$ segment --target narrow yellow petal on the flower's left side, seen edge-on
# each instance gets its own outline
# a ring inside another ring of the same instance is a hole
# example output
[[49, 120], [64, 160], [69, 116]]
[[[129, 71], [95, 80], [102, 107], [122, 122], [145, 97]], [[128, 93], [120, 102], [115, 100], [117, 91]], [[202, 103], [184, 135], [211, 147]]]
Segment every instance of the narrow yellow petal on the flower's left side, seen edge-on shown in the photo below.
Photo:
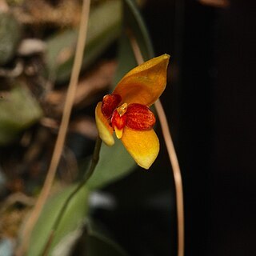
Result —
[[109, 125], [106, 117], [102, 114], [102, 102], [98, 102], [95, 109], [95, 119], [98, 128], [98, 135], [107, 146], [114, 145], [113, 128]]

